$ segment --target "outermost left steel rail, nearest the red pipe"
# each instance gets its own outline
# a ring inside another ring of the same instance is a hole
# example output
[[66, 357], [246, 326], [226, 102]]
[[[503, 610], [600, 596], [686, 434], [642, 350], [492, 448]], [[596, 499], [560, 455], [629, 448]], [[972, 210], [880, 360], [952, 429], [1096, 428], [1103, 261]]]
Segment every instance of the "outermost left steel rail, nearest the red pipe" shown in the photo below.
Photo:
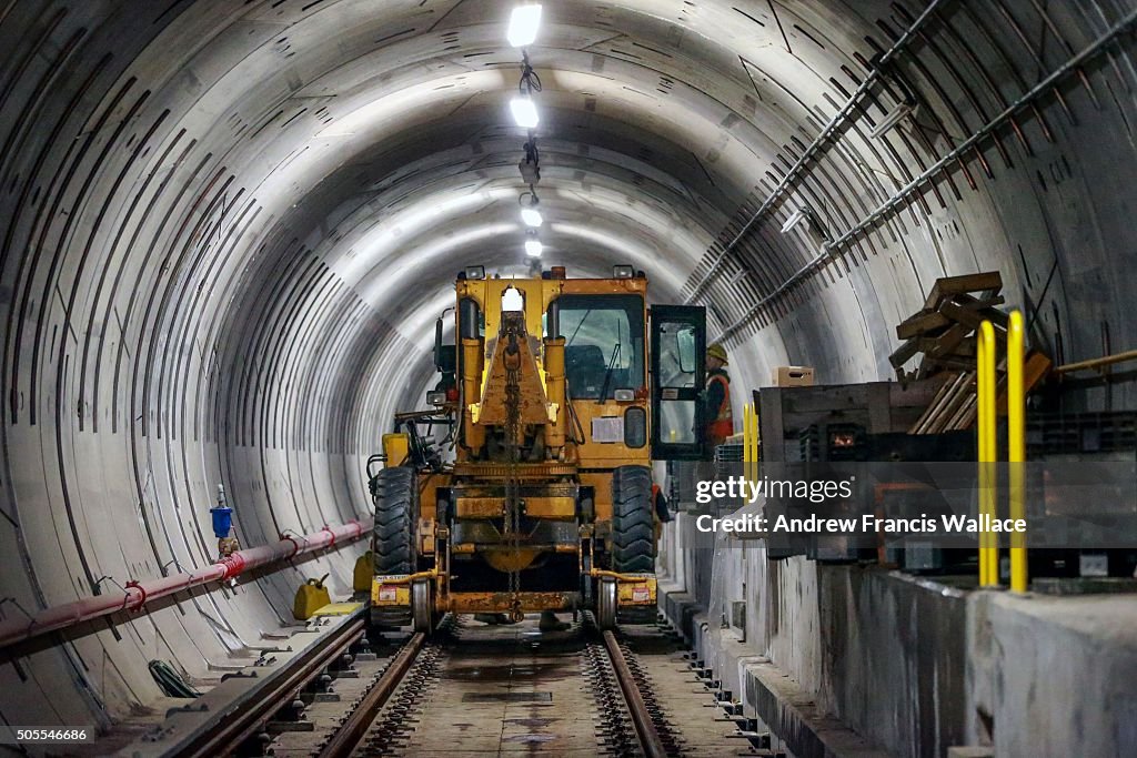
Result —
[[340, 658], [367, 631], [365, 610], [357, 611], [357, 618], [329, 632], [309, 650], [289, 661], [288, 672], [279, 681], [274, 680], [264, 689], [258, 689], [254, 697], [232, 703], [207, 730], [191, 735], [188, 744], [179, 745], [165, 755], [177, 758], [215, 758], [236, 752], [273, 714], [296, 699], [297, 691]]

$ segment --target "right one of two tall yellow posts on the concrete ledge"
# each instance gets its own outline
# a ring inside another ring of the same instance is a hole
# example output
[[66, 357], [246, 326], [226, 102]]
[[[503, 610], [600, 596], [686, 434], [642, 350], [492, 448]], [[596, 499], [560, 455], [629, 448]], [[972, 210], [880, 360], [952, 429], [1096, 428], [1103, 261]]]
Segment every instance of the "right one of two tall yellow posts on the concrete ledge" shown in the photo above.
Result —
[[[1027, 517], [1027, 394], [1023, 390], [1022, 313], [1013, 311], [1006, 331], [1006, 420], [1007, 461], [1012, 519]], [[1027, 535], [1011, 532], [1011, 591], [1027, 591]]]

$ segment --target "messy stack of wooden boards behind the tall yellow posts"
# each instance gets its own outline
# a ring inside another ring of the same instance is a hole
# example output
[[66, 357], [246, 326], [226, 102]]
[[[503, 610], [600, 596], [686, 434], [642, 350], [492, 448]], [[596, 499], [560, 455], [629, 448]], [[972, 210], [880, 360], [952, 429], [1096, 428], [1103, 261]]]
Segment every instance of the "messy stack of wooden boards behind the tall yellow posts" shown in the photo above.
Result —
[[[1002, 290], [1003, 277], [998, 272], [937, 280], [923, 308], [896, 327], [896, 336], [904, 341], [888, 358], [896, 376], [904, 383], [913, 380], [940, 383], [931, 405], [908, 430], [910, 434], [938, 434], [974, 425], [977, 335], [985, 320], [995, 327], [995, 355], [1001, 363], [999, 405], [1006, 407], [1002, 361], [1006, 355], [1009, 317], [997, 308], [1005, 301], [999, 294]], [[914, 370], [906, 370], [904, 366], [916, 356], [921, 356], [920, 365]], [[1027, 391], [1049, 367], [1046, 356], [1028, 351], [1023, 367]]]

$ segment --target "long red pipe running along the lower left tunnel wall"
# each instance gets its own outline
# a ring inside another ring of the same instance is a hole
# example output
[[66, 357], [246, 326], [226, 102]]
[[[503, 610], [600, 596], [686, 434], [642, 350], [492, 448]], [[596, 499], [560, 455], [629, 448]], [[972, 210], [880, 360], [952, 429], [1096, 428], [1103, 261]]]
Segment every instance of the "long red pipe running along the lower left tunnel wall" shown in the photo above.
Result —
[[146, 603], [149, 600], [165, 598], [210, 582], [224, 582], [255, 568], [282, 563], [324, 548], [343, 547], [358, 541], [364, 534], [363, 524], [355, 520], [340, 526], [325, 526], [305, 536], [285, 536], [273, 544], [238, 550], [213, 565], [192, 572], [147, 582], [127, 582], [123, 588], [123, 594], [98, 594], [44, 608], [31, 618], [14, 618], [0, 623], [0, 650], [100, 616], [124, 610], [146, 613]]

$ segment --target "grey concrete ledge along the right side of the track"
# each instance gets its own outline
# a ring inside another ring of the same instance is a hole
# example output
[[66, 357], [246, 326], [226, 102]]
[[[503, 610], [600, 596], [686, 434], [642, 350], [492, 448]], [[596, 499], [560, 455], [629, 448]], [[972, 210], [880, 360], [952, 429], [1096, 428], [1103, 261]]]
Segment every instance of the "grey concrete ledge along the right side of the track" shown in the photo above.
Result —
[[1137, 594], [1015, 597], [971, 577], [713, 552], [729, 577], [716, 592], [746, 588], [745, 627], [703, 597], [709, 582], [691, 593], [662, 577], [661, 609], [797, 758], [1124, 756], [1137, 744]]

